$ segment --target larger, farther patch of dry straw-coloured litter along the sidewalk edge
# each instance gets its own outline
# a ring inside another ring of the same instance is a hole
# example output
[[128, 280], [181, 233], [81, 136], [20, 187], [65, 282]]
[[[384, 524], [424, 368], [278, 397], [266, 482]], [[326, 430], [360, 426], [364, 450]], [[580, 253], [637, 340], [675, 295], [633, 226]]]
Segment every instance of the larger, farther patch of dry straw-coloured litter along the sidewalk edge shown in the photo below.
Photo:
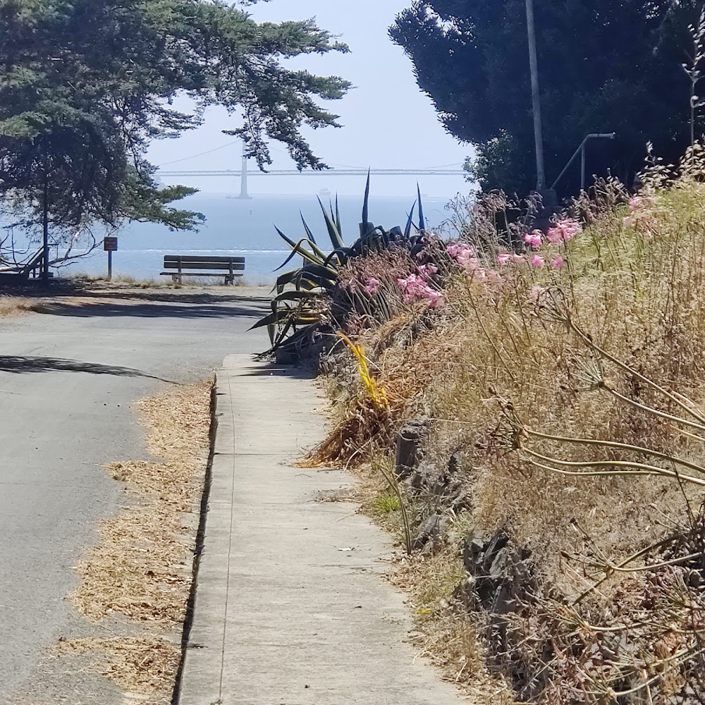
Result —
[[183, 622], [195, 541], [194, 520], [188, 526], [186, 515], [202, 493], [210, 388], [204, 382], [140, 402], [147, 447], [166, 462], [107, 468], [135, 503], [102, 522], [99, 545], [78, 565], [81, 584], [72, 600], [90, 619], [121, 613], [133, 620]]

